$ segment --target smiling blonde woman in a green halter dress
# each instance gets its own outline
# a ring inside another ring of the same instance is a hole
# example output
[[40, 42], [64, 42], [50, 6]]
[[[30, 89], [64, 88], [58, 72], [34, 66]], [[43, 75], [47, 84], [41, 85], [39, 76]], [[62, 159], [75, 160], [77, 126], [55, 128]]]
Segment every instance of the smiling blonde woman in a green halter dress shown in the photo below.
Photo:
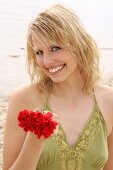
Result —
[[[10, 101], [4, 170], [112, 170], [113, 89], [99, 83], [99, 53], [72, 10], [55, 5], [31, 23], [27, 39], [32, 83]], [[49, 110], [56, 135], [37, 139], [17, 121], [23, 109]]]

